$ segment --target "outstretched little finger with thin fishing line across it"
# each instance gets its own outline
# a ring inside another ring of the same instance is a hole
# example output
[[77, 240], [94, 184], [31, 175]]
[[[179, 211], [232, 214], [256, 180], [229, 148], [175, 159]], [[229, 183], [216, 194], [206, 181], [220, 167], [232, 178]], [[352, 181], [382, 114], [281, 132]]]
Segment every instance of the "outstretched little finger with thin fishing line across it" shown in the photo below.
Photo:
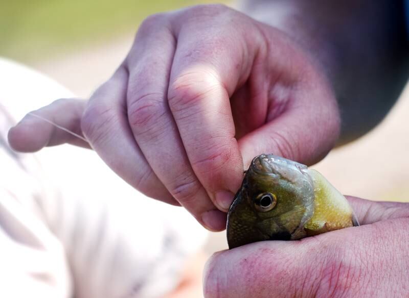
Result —
[[19, 152], [35, 152], [63, 143], [89, 148], [88, 142], [81, 139], [84, 137], [81, 131], [84, 107], [84, 101], [71, 98], [33, 111], [10, 129], [9, 143]]

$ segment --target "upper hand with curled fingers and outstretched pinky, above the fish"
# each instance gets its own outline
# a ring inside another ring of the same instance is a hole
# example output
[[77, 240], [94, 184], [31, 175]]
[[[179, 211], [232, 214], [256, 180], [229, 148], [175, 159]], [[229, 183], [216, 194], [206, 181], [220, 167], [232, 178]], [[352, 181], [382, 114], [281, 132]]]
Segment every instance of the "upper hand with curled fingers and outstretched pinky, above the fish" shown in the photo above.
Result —
[[[147, 18], [86, 106], [60, 101], [36, 113], [83, 133], [125, 181], [186, 207], [211, 230], [224, 229], [254, 156], [311, 164], [339, 133], [336, 101], [310, 56], [281, 31], [219, 5]], [[25, 133], [28, 123], [35, 135]], [[9, 140], [30, 151], [74, 138], [28, 116]]]

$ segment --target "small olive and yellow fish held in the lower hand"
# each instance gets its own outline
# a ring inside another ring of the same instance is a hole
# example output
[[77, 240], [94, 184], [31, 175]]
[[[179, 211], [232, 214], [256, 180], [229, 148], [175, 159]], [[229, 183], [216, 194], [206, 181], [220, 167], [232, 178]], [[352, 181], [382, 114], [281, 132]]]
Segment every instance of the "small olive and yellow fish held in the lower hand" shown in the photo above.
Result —
[[299, 240], [359, 226], [351, 205], [318, 171], [273, 154], [256, 156], [228, 211], [229, 249]]

